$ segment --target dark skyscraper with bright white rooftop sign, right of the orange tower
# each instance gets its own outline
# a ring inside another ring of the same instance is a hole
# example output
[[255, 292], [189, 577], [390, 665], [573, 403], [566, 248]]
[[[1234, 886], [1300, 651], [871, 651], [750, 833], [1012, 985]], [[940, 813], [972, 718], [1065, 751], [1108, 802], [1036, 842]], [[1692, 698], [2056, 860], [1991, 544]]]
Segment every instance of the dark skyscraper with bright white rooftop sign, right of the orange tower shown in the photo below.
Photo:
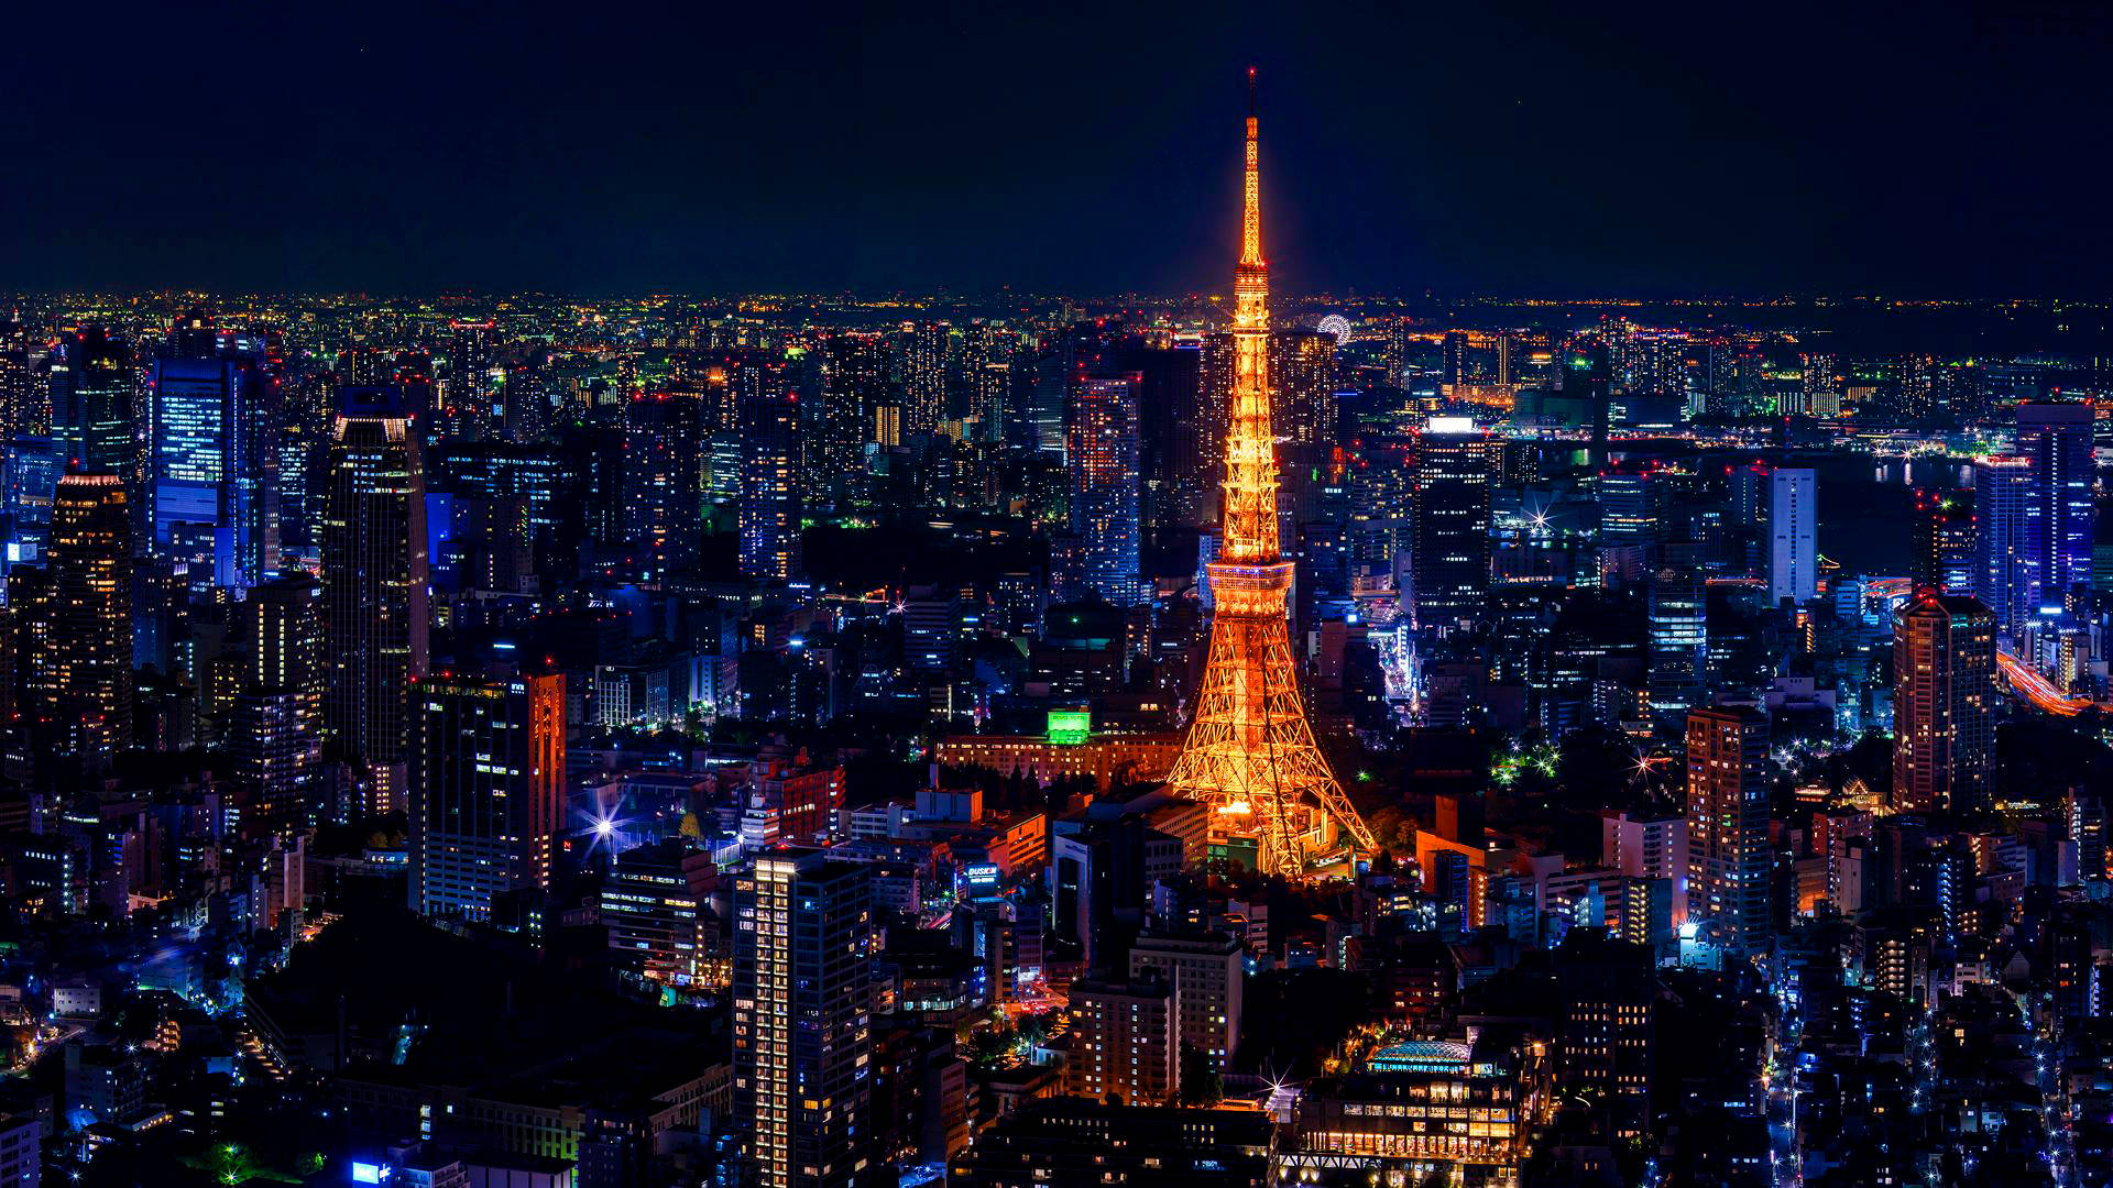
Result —
[[1504, 465], [1504, 442], [1464, 416], [1433, 419], [1416, 448], [1416, 624], [1460, 628], [1490, 602], [1490, 486]]

